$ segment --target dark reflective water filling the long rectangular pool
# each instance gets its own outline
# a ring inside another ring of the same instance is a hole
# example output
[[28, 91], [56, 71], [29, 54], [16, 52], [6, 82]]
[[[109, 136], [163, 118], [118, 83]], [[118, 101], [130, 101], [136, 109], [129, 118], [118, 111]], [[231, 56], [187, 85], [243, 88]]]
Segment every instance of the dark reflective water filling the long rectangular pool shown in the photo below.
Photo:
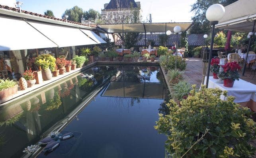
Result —
[[98, 65], [82, 73], [93, 74], [94, 79], [86, 80], [78, 74], [0, 107], [0, 157], [21, 157], [26, 146], [36, 144], [60, 126], [83, 106], [89, 94], [102, 86], [63, 129], [63, 133], [74, 132], [74, 137], [38, 157], [164, 157], [166, 137], [153, 127], [166, 98], [159, 67]]

